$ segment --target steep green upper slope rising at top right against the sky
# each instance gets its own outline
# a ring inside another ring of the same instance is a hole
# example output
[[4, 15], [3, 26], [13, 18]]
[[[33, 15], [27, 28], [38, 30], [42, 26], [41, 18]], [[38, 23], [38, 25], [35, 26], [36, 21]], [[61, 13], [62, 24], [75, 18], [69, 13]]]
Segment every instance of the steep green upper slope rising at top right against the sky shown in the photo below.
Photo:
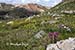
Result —
[[[75, 13], [75, 1], [65, 1], [59, 3], [59, 5], [56, 5], [55, 7], [51, 8], [50, 13], [57, 13], [57, 14], [63, 14], [63, 13]], [[48, 10], [49, 11], [49, 10]]]

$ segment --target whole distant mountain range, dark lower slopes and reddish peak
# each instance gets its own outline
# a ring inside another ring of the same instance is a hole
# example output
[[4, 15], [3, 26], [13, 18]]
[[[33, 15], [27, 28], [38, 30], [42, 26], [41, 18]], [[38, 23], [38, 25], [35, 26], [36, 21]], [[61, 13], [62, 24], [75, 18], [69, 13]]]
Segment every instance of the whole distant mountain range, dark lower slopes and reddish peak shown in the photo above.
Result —
[[26, 4], [26, 5], [11, 5], [11, 4], [0, 4], [0, 18], [24, 18], [44, 12], [46, 8], [38, 4]]

